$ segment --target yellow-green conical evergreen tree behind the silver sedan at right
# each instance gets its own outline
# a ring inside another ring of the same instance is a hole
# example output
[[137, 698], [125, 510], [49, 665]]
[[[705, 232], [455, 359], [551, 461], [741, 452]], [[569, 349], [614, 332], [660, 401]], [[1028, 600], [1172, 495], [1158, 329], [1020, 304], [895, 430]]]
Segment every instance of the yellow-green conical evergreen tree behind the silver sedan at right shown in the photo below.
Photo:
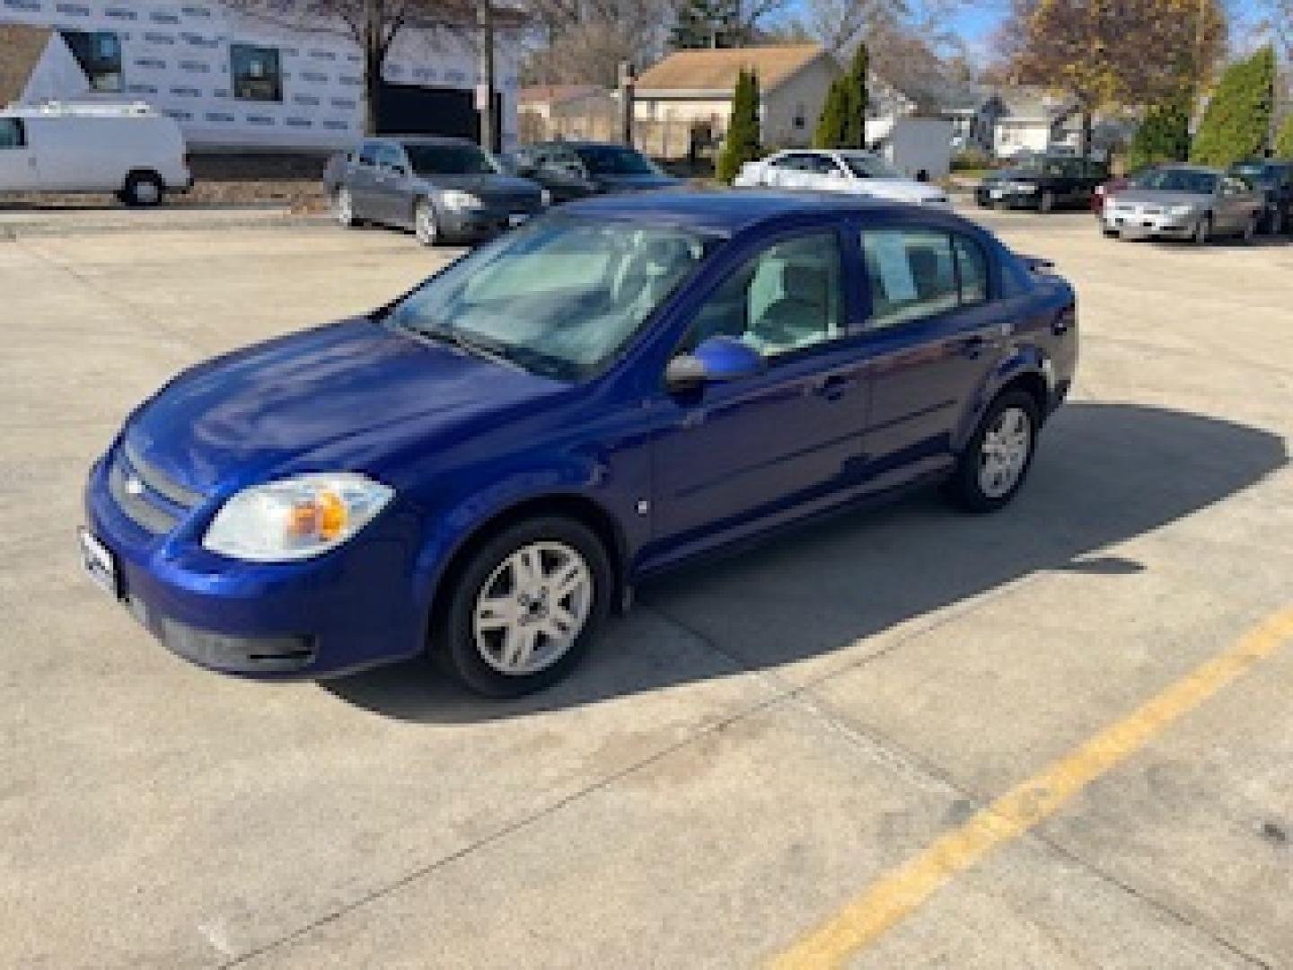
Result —
[[1275, 48], [1236, 61], [1221, 76], [1195, 136], [1190, 160], [1224, 168], [1265, 154], [1275, 109]]

